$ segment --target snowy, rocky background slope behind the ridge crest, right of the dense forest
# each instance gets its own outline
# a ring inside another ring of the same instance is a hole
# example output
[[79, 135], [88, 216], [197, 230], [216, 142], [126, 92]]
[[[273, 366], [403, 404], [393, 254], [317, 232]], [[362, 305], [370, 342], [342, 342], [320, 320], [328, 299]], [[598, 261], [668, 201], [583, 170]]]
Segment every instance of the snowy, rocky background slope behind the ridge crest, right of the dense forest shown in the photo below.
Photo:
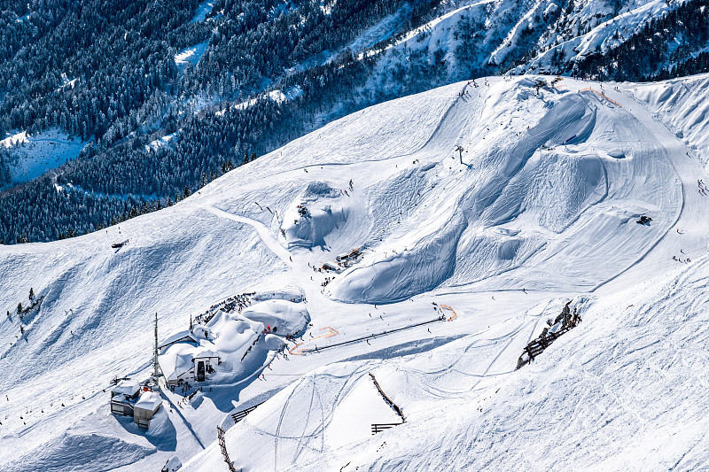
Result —
[[[401, 88], [401, 81], [411, 77], [442, 84], [451, 78], [491, 74], [597, 74], [597, 70], [579, 71], [573, 66], [589, 56], [607, 54], [651, 19], [682, 2], [478, 0], [454, 4], [457, 8], [401, 33], [386, 47], [370, 78], [372, 89]], [[682, 38], [675, 38], [674, 43], [682, 44]]]

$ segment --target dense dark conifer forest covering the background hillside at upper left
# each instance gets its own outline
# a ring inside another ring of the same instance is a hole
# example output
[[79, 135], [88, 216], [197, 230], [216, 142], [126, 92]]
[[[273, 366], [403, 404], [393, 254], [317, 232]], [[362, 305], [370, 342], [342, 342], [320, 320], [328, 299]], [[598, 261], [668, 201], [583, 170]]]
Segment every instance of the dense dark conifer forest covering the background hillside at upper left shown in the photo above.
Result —
[[[370, 61], [298, 72], [300, 63], [337, 51], [401, 4], [227, 1], [200, 21], [191, 21], [196, 0], [3, 4], [0, 132], [58, 127], [92, 143], [79, 159], [0, 193], [0, 240], [73, 236], [166, 205], [304, 134]], [[179, 71], [175, 53], [203, 41], [199, 66]], [[297, 100], [258, 98], [288, 70], [302, 90]], [[253, 94], [250, 106], [230, 106]], [[188, 105], [194, 97], [210, 106]], [[175, 146], [144, 145], [175, 131]], [[52, 194], [53, 183], [64, 190]]]

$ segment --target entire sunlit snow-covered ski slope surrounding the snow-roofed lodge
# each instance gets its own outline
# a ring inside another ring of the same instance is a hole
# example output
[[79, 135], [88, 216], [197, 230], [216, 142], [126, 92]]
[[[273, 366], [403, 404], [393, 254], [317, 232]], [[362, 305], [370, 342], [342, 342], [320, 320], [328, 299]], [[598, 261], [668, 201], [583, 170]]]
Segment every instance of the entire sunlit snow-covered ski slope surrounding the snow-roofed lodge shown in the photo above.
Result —
[[[237, 470], [706, 467], [707, 77], [552, 80], [379, 104], [120, 228], [0, 246], [0, 468], [226, 471], [217, 425]], [[287, 360], [163, 390], [147, 431], [110, 414], [155, 313], [163, 341], [247, 292], [301, 313]], [[405, 422], [372, 435], [401, 422], [378, 388]]]

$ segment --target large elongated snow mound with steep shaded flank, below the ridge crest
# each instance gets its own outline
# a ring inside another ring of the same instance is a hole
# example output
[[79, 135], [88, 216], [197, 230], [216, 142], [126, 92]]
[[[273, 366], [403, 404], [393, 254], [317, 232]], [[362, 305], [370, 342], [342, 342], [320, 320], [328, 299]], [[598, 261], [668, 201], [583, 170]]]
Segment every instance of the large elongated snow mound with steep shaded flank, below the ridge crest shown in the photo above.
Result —
[[[476, 267], [505, 270], [538, 251], [545, 231], [561, 233], [580, 213], [603, 201], [606, 170], [598, 148], [606, 121], [598, 122], [597, 115], [607, 115], [604, 104], [583, 90], [537, 95], [535, 83], [528, 77], [498, 81], [480, 92], [487, 97], [483, 95], [483, 109], [475, 119], [497, 121], [495, 129], [480, 127], [470, 114], [451, 118], [462, 128], [457, 142], [470, 145], [475, 160], [465, 162], [461, 152], [456, 171], [450, 165], [429, 168], [428, 174], [446, 175], [441, 184], [448, 191], [428, 190], [422, 199], [436, 213], [417, 210], [409, 215], [408, 230], [399, 232], [404, 234], [378, 244], [361, 264], [328, 285], [331, 298], [376, 304], [410, 298], [446, 282], [461, 258], [468, 259], [463, 264], [466, 276]], [[524, 121], [514, 112], [500, 116], [500, 109], [522, 106], [529, 113]], [[523, 123], [528, 125], [522, 128]], [[511, 239], [485, 231], [510, 221], [530, 234]]]

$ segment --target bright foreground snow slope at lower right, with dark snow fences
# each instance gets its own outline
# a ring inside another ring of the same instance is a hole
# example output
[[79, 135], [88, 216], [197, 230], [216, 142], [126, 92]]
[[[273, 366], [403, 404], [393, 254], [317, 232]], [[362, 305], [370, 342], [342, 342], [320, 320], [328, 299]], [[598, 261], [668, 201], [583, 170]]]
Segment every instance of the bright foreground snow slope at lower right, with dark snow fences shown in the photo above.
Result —
[[[518, 371], [534, 319], [560, 303], [431, 352], [316, 370], [230, 430], [231, 457], [244, 470], [703, 469], [707, 276], [704, 257], [581, 298], [579, 328]], [[374, 437], [369, 423], [400, 420], [370, 406], [370, 372], [407, 419]], [[358, 441], [338, 444], [342, 422]], [[217, 445], [185, 469], [227, 470]]]

